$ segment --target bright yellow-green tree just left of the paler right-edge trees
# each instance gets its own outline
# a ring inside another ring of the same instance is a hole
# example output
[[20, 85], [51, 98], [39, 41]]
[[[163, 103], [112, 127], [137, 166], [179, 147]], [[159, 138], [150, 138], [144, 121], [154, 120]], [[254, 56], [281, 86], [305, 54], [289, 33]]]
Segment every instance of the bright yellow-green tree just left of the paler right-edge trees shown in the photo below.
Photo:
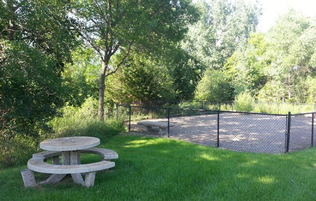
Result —
[[224, 73], [233, 85], [235, 95], [249, 91], [256, 95], [267, 83], [267, 67], [271, 62], [265, 57], [268, 43], [265, 35], [253, 33], [244, 47], [237, 49], [224, 64]]

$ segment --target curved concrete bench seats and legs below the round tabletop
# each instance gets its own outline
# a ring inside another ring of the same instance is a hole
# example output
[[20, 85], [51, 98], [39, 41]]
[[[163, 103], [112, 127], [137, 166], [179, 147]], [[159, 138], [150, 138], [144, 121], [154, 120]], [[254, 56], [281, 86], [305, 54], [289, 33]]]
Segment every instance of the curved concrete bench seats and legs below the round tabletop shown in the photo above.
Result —
[[[81, 184], [86, 187], [94, 186], [95, 172], [100, 170], [109, 169], [115, 166], [114, 162], [107, 161], [106, 159], [118, 158], [118, 154], [112, 150], [92, 147], [88, 149], [82, 149], [79, 153], [97, 154], [103, 158], [100, 162], [90, 164], [80, 164], [78, 158], [78, 164], [60, 165], [59, 156], [62, 155], [60, 151], [43, 151], [33, 154], [32, 158], [28, 161], [28, 169], [22, 170], [22, 178], [26, 187], [36, 186], [34, 173], [42, 172], [52, 174], [47, 180], [40, 182], [40, 184], [56, 183], [63, 179], [66, 174], [71, 174], [75, 183]], [[53, 164], [45, 162], [47, 158], [52, 158]], [[76, 159], [77, 160], [77, 159]], [[85, 180], [83, 180], [81, 174], [85, 174]]]

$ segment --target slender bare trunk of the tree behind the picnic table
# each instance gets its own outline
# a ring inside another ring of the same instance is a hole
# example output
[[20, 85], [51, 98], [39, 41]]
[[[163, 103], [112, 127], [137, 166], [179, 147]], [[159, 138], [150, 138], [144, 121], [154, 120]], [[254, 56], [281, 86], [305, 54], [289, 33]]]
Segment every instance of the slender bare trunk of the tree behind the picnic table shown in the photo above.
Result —
[[98, 118], [100, 121], [104, 120], [104, 92], [105, 92], [105, 73], [108, 68], [108, 62], [102, 61], [102, 69], [99, 83], [99, 108]]

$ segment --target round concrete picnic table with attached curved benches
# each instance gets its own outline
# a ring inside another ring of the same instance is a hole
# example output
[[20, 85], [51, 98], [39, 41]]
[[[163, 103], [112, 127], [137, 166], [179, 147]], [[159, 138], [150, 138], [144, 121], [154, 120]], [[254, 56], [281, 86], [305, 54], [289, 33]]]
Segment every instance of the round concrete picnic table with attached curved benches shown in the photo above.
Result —
[[[47, 151], [33, 154], [33, 157], [28, 161], [29, 169], [21, 171], [24, 185], [26, 187], [37, 185], [32, 172], [35, 171], [52, 174], [40, 184], [56, 183], [67, 174], [71, 174], [75, 183], [86, 187], [93, 186], [95, 172], [114, 167], [115, 163], [108, 160], [118, 158], [117, 153], [112, 150], [95, 147], [99, 144], [100, 140], [95, 137], [64, 137], [41, 142], [40, 148]], [[81, 165], [80, 153], [97, 154], [102, 156], [104, 160]], [[62, 165], [59, 162], [60, 155], [62, 156]], [[53, 164], [46, 163], [46, 158], [52, 158]], [[83, 180], [82, 173], [85, 173], [85, 180]]]

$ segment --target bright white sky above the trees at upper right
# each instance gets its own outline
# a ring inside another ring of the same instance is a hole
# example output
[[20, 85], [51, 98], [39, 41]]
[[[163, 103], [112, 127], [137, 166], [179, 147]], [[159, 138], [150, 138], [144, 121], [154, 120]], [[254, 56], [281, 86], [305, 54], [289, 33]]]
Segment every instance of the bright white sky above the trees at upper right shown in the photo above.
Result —
[[[245, 0], [256, 3], [256, 0]], [[259, 18], [257, 30], [267, 32], [278, 19], [290, 8], [300, 11], [306, 16], [316, 17], [316, 0], [258, 0], [261, 4], [262, 15]]]

